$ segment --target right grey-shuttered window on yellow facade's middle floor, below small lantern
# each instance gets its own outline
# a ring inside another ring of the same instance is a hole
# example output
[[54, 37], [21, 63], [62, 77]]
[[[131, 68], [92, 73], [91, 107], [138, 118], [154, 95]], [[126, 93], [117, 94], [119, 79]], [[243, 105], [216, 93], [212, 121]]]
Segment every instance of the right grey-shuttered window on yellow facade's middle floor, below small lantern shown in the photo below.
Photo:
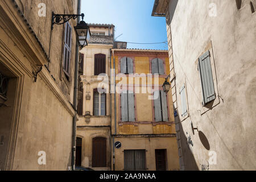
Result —
[[168, 121], [168, 106], [166, 93], [163, 90], [154, 92], [154, 109], [155, 109], [155, 122]]

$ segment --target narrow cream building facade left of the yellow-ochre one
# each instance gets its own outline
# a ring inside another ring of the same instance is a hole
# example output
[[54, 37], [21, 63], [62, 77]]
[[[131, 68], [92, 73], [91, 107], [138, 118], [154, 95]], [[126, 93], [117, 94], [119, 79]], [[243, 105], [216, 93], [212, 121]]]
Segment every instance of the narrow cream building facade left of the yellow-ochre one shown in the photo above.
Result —
[[[79, 121], [76, 165], [110, 170], [110, 94], [98, 92], [102, 78], [109, 85], [110, 49], [114, 46], [113, 24], [89, 24], [92, 36], [80, 51]], [[102, 85], [104, 86], [104, 85]]]

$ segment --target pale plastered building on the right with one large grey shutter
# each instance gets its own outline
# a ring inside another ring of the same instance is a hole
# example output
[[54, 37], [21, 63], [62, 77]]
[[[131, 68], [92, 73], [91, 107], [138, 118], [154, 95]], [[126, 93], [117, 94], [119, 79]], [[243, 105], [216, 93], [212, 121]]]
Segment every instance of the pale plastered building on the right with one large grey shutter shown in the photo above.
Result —
[[255, 170], [256, 1], [155, 0], [181, 170]]

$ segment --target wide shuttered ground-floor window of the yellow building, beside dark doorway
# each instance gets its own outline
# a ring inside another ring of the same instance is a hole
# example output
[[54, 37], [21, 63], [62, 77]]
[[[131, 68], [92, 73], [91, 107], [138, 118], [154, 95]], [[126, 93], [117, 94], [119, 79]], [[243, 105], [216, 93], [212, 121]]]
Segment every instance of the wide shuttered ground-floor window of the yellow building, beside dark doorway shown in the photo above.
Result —
[[125, 170], [146, 170], [146, 150], [125, 150]]

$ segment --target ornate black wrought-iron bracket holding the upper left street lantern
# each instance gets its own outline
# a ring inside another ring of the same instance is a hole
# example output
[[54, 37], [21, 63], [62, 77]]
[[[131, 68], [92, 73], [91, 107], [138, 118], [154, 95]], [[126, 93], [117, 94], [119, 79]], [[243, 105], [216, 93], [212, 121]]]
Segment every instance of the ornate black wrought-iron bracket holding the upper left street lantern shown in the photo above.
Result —
[[84, 14], [76, 15], [76, 14], [55, 14], [52, 12], [52, 30], [54, 24], [64, 24], [68, 22], [70, 19], [76, 19], [78, 16], [82, 16], [82, 20], [84, 20]]

